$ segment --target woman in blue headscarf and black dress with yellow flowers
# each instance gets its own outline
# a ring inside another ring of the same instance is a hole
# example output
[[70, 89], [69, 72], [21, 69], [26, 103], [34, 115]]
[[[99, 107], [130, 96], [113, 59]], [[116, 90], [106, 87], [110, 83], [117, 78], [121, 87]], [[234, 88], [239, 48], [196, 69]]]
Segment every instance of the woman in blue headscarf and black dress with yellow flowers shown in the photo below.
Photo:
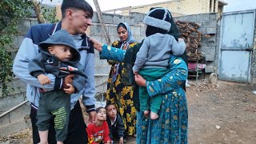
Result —
[[[130, 26], [121, 22], [117, 27], [120, 40], [112, 46], [121, 50], [133, 49], [134, 40]], [[129, 63], [108, 60], [111, 65], [107, 83], [106, 102], [114, 103], [125, 125], [125, 135], [135, 136], [136, 110], [134, 107], [134, 74]]]

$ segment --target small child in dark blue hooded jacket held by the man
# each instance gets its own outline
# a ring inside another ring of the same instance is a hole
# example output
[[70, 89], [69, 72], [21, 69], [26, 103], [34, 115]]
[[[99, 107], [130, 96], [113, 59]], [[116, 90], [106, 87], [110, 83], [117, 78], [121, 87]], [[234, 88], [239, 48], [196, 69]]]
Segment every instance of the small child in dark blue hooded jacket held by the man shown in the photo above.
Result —
[[[82, 90], [87, 77], [79, 63], [79, 51], [66, 30], [58, 30], [38, 46], [40, 53], [29, 63], [30, 74], [38, 78], [42, 85], [50, 84], [47, 74], [53, 74], [56, 85], [54, 90], [40, 90], [38, 122], [36, 123], [40, 137], [39, 143], [48, 143], [50, 119], [54, 118], [56, 140], [58, 144], [61, 144], [67, 135], [70, 94]], [[75, 74], [73, 84], [57, 87], [68, 74]]]

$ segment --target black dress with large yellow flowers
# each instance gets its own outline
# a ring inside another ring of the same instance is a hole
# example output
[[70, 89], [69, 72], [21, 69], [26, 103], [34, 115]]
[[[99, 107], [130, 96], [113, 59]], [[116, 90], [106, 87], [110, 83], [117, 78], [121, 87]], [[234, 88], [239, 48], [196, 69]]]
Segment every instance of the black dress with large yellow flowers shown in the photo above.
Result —
[[[130, 49], [137, 42], [130, 43]], [[112, 46], [120, 48], [122, 42], [113, 42]], [[129, 63], [116, 62], [109, 60], [111, 66], [110, 75], [107, 82], [106, 102], [114, 103], [121, 115], [125, 125], [126, 135], [135, 134], [136, 109], [134, 107], [134, 74]], [[117, 69], [118, 64], [118, 69]], [[118, 71], [117, 71], [118, 70]], [[116, 80], [112, 82], [113, 75], [116, 73]]]

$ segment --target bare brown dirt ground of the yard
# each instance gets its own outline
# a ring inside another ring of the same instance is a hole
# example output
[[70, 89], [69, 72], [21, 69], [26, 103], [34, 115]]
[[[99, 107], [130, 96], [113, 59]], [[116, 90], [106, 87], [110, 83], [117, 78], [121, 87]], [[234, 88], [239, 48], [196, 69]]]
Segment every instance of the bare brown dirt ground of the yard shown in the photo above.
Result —
[[[250, 84], [190, 82], [186, 97], [191, 144], [256, 143], [256, 94]], [[28, 128], [0, 139], [0, 144], [31, 143]], [[129, 138], [128, 143], [135, 143]]]

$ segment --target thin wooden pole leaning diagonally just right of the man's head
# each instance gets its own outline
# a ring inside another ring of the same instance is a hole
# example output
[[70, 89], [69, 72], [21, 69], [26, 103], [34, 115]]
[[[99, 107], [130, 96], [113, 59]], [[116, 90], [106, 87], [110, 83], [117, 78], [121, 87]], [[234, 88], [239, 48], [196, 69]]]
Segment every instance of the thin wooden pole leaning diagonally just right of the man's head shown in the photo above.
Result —
[[95, 6], [95, 8], [96, 8], [96, 10], [97, 10], [98, 20], [99, 20], [99, 22], [101, 23], [102, 30], [103, 30], [104, 36], [105, 36], [105, 38], [106, 38], [106, 43], [107, 43], [108, 45], [110, 45], [110, 44], [111, 44], [111, 42], [110, 42], [110, 36], [109, 36], [108, 33], [106, 33], [106, 25], [105, 25], [105, 23], [102, 21], [102, 11], [101, 11], [101, 9], [100, 9], [100, 7], [99, 7], [99, 5], [98, 5], [98, 0], [94, 0], [94, 6]]

